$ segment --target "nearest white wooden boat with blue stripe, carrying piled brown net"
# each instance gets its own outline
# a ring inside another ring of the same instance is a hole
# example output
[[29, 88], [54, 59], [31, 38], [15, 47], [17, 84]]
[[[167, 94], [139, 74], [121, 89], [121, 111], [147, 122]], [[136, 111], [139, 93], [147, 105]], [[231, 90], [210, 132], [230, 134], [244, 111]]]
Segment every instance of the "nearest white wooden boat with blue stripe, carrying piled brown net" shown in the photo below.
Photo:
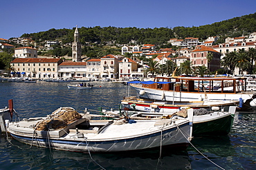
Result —
[[8, 123], [8, 132], [20, 142], [77, 152], [135, 151], [160, 147], [185, 149], [192, 139], [192, 112], [188, 118], [152, 120], [93, 120], [72, 107], [60, 107], [44, 118]]

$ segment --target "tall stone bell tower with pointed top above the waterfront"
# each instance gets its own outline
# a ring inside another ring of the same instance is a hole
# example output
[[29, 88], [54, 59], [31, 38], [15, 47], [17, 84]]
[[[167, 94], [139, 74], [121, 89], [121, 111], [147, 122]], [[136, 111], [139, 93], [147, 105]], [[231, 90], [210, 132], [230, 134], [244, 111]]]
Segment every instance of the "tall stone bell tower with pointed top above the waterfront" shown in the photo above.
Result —
[[79, 33], [77, 29], [77, 25], [75, 28], [75, 33], [74, 33], [74, 42], [72, 43], [72, 59], [75, 62], [81, 61], [81, 44], [79, 42]]

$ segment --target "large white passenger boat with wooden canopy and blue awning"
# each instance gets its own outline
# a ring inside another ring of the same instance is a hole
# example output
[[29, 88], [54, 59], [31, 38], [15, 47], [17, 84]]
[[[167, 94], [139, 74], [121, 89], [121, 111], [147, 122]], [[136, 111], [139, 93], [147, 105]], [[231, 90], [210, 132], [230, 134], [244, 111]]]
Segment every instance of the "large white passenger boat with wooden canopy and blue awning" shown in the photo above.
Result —
[[[224, 83], [231, 82], [230, 87]], [[217, 86], [220, 83], [220, 86]], [[244, 77], [156, 77], [154, 81], [131, 81], [140, 98], [168, 101], [237, 100], [250, 107], [256, 95], [246, 91]]]

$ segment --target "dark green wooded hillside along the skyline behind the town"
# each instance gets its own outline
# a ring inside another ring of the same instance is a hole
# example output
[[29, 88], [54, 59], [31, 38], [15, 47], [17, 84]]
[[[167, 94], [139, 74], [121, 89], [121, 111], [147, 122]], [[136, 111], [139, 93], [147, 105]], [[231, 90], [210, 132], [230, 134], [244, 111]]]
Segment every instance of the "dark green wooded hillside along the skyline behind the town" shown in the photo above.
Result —
[[[78, 28], [80, 32], [80, 42], [82, 45], [89, 43], [96, 44], [136, 44], [151, 43], [162, 45], [169, 39], [185, 39], [185, 37], [196, 37], [201, 40], [207, 39], [208, 36], [219, 36], [219, 43], [223, 43], [226, 37], [237, 37], [248, 35], [256, 31], [256, 12], [254, 14], [235, 17], [226, 21], [212, 23], [210, 25], [201, 25], [199, 27], [183, 26], [174, 28], [116, 28], [113, 26], [103, 27], [95, 26], [93, 28]], [[33, 37], [36, 42], [46, 40], [59, 40], [62, 43], [73, 42], [73, 30], [60, 29], [31, 34], [23, 34], [21, 37]]]

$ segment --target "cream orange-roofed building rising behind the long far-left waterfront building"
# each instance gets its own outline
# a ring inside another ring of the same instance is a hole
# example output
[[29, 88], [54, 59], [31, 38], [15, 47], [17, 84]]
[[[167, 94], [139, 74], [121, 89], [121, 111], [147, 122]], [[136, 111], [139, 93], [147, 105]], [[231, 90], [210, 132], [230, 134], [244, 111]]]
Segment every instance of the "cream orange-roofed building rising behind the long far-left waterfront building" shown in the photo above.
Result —
[[37, 58], [37, 49], [33, 47], [15, 48], [15, 58]]

